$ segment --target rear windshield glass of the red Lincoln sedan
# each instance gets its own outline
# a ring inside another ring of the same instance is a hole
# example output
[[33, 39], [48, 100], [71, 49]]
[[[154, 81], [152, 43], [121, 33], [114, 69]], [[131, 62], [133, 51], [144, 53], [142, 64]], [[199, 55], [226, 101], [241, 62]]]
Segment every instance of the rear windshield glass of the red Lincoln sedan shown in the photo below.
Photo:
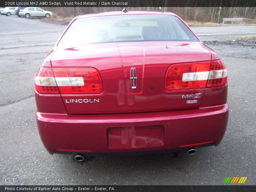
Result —
[[198, 41], [175, 16], [142, 14], [75, 20], [58, 46], [129, 41]]

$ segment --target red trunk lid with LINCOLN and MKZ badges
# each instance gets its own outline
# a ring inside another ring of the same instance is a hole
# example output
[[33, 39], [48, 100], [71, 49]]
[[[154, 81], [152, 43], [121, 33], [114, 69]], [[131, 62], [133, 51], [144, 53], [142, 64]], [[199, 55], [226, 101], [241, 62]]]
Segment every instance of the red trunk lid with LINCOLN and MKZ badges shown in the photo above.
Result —
[[210, 60], [211, 52], [201, 42], [158, 41], [58, 48], [51, 62], [53, 68], [90, 67], [99, 71], [103, 92], [61, 97], [70, 114], [102, 114], [198, 108], [204, 88], [166, 91], [165, 75], [172, 64]]

